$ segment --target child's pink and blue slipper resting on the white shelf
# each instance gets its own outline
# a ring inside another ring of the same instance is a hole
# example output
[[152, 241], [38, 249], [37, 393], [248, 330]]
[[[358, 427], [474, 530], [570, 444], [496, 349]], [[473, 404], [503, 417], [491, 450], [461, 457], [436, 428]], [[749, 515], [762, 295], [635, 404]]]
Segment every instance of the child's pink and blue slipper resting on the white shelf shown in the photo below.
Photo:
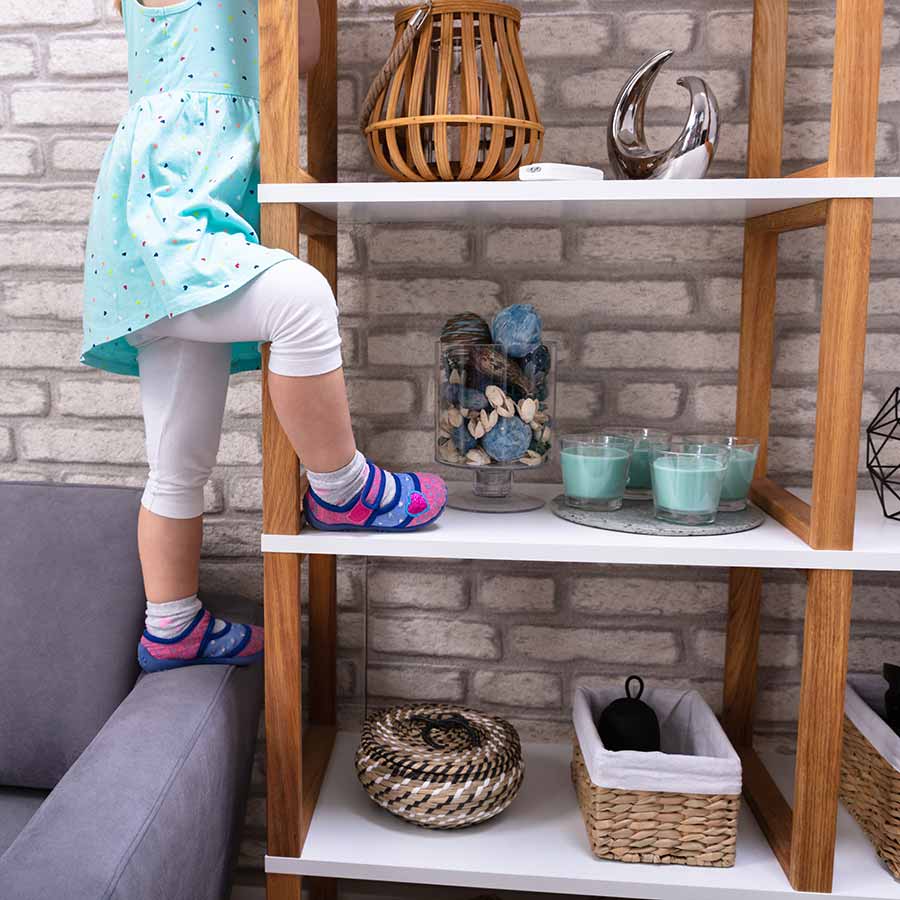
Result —
[[[447, 485], [438, 475], [424, 472], [385, 472], [371, 460], [365, 487], [349, 503], [333, 506], [310, 488], [306, 517], [322, 531], [415, 531], [430, 525], [444, 511]], [[388, 478], [396, 490], [390, 503], [382, 503]]]

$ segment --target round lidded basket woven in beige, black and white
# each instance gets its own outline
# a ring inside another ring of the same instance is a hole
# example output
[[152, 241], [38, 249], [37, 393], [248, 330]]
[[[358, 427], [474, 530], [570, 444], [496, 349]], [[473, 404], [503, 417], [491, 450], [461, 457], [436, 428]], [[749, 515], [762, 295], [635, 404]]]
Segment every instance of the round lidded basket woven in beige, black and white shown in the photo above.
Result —
[[373, 713], [356, 751], [356, 774], [388, 812], [423, 828], [466, 828], [512, 803], [525, 764], [509, 722], [446, 704]]

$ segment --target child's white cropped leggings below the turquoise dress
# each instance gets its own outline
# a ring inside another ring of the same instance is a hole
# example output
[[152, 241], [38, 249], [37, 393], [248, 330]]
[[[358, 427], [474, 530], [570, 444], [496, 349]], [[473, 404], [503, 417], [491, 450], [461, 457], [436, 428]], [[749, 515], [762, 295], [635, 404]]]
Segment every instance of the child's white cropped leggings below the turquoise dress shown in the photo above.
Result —
[[151, 512], [192, 519], [219, 451], [231, 344], [271, 341], [269, 370], [322, 375], [341, 366], [337, 305], [312, 266], [286, 260], [230, 297], [162, 319], [128, 338], [138, 348]]

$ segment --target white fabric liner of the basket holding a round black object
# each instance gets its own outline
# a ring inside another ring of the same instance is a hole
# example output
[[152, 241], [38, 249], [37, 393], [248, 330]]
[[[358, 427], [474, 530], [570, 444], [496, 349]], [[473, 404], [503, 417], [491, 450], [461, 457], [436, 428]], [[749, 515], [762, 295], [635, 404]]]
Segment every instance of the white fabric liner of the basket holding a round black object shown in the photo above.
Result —
[[621, 685], [575, 691], [572, 717], [591, 781], [598, 787], [675, 794], [741, 793], [741, 760], [696, 691], [646, 688], [641, 700], [659, 717], [662, 752], [607, 750], [594, 722]]

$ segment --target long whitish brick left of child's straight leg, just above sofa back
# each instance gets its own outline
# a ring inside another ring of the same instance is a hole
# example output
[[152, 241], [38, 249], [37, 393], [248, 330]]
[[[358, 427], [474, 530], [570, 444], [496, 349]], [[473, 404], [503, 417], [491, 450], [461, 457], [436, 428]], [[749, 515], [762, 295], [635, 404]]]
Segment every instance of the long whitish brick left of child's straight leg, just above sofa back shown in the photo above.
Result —
[[19, 432], [24, 459], [47, 462], [143, 463], [142, 428], [88, 428], [58, 423], [26, 425]]

